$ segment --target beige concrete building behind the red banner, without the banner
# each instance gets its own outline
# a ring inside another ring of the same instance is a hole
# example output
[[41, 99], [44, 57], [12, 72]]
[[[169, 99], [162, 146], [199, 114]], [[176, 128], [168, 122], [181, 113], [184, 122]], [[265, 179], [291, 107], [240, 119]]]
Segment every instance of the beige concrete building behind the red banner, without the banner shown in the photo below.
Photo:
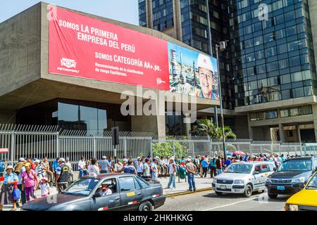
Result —
[[[69, 11], [197, 52], [156, 30]], [[111, 130], [111, 127], [118, 126], [120, 131], [151, 131], [159, 136], [166, 135], [166, 127], [175, 127], [173, 123], [180, 120], [180, 115], [121, 115], [120, 104], [125, 100], [120, 98], [120, 94], [126, 90], [136, 93], [137, 86], [49, 73], [47, 15], [48, 4], [41, 2], [0, 24], [0, 124], [46, 124], [81, 130]], [[147, 90], [159, 92], [144, 88]], [[167, 101], [155, 101], [155, 110], [158, 111], [162, 104], [166, 105]], [[198, 110], [218, 104], [215, 100], [197, 98]], [[180, 129], [179, 122], [177, 126], [176, 129]], [[182, 133], [188, 134], [189, 127], [181, 126]]]

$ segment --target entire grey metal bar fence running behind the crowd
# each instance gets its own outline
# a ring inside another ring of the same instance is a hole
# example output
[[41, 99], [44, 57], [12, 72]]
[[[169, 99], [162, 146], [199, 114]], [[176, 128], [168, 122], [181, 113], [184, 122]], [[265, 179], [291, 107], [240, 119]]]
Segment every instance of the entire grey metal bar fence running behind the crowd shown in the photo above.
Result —
[[[184, 137], [157, 138], [146, 132], [120, 132], [118, 158], [139, 156], [188, 157], [189, 155], [223, 154], [223, 143], [208, 136], [191, 139]], [[114, 156], [111, 131], [61, 131], [57, 126], [26, 126], [0, 124], [0, 149], [8, 148], [8, 153], [0, 153], [0, 160], [15, 164], [20, 157], [70, 158], [77, 164], [81, 156], [100, 159], [103, 155]], [[252, 141], [238, 139], [226, 141], [226, 150], [242, 150], [249, 155], [278, 153], [289, 155], [317, 154], [317, 143], [280, 143], [273, 141]]]

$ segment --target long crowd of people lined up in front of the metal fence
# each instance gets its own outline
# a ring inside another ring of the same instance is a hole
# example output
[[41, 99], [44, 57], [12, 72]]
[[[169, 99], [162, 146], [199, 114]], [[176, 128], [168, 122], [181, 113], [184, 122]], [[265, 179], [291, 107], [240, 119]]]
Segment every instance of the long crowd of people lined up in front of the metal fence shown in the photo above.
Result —
[[[276, 167], [282, 164], [286, 159], [298, 157], [298, 155], [283, 154], [259, 154], [259, 155], [228, 155], [211, 158], [208, 155], [197, 155], [194, 158], [189, 156], [182, 157], [163, 157], [151, 158], [142, 156], [137, 159], [132, 157], [117, 159], [109, 156], [103, 156], [101, 160], [95, 158], [81, 157], [77, 163], [79, 171], [78, 179], [82, 176], [97, 176], [106, 173], [128, 173], [141, 176], [144, 179], [158, 180], [159, 176], [168, 176], [168, 186], [166, 188], [176, 188], [175, 177], [180, 172], [185, 172], [189, 184], [188, 191], [196, 191], [195, 175], [206, 178], [221, 174], [226, 167], [234, 162], [250, 161], [272, 161]], [[0, 175], [4, 173], [4, 182], [0, 192], [0, 211], [3, 205], [13, 205], [12, 210], [16, 210], [19, 203], [25, 204], [31, 198], [37, 198], [35, 191], [40, 190], [41, 196], [45, 197], [51, 194], [51, 187], [55, 186], [58, 193], [71, 184], [74, 179], [73, 165], [69, 158], [56, 158], [52, 163], [47, 157], [42, 160], [32, 158], [20, 158], [13, 167], [8, 165], [4, 168], [0, 164]], [[106, 190], [106, 187], [104, 187]], [[106, 193], [106, 191], [105, 191]]]

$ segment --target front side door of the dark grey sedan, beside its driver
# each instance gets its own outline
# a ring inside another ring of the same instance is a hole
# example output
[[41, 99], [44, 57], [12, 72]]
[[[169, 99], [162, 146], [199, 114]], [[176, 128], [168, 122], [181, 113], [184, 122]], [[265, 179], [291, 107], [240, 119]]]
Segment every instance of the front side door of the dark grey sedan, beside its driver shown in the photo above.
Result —
[[118, 185], [116, 178], [104, 179], [99, 183], [95, 193], [101, 191], [101, 184], [108, 184], [108, 188], [111, 189], [111, 195], [93, 196], [90, 200], [92, 211], [104, 211], [104, 210], [119, 210], [121, 206], [120, 193], [118, 192]]

